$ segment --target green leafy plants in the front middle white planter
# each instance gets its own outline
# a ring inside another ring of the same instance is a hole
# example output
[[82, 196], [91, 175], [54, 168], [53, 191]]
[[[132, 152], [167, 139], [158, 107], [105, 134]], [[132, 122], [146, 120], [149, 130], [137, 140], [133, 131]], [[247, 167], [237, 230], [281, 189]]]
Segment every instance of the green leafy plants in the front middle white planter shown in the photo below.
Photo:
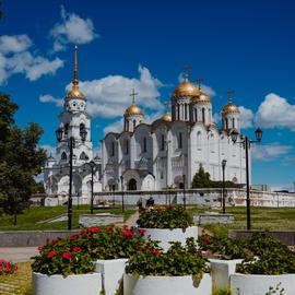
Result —
[[193, 238], [189, 238], [186, 247], [181, 247], [180, 243], [172, 243], [167, 252], [143, 248], [130, 258], [126, 272], [143, 276], [194, 275], [201, 279], [209, 268]]

